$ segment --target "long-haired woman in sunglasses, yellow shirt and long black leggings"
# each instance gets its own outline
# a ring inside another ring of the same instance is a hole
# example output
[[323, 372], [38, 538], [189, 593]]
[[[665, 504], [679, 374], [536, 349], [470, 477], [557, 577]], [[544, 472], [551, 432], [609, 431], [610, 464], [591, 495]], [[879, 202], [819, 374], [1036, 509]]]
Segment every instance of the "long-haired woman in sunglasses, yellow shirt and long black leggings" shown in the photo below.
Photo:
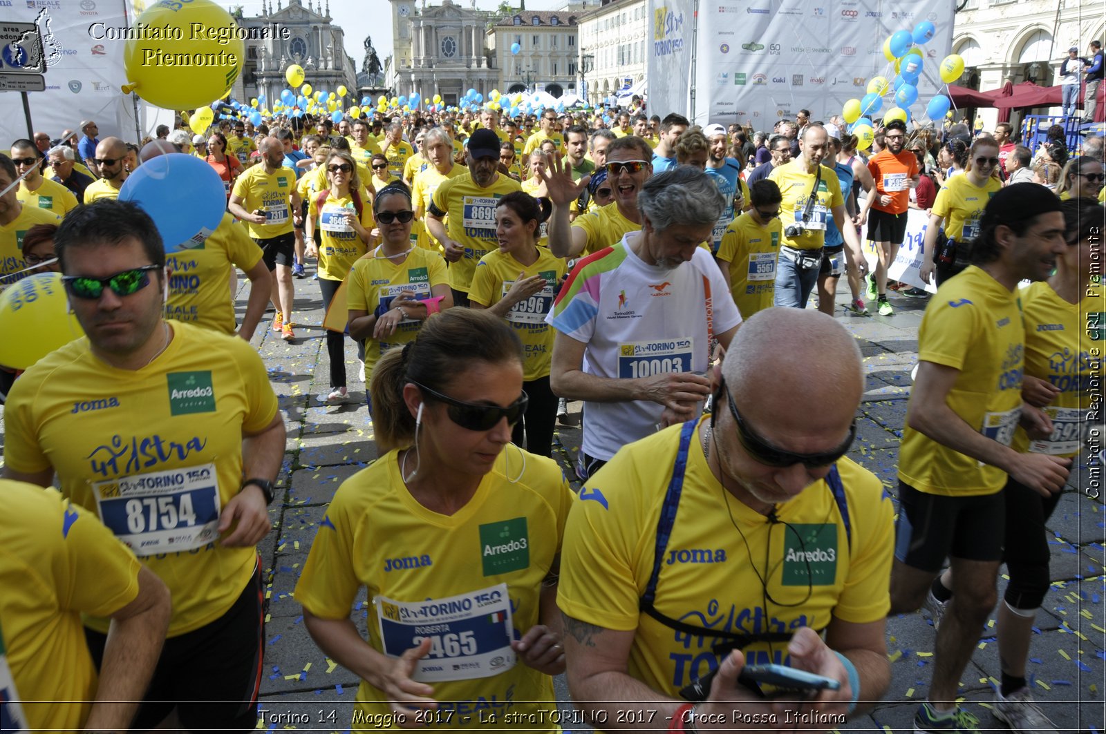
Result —
[[[365, 254], [372, 241], [372, 199], [357, 177], [353, 156], [331, 150], [323, 164], [330, 189], [320, 191], [307, 206], [307, 255], [319, 258], [319, 287], [323, 308], [328, 308], [353, 263]], [[314, 233], [320, 230], [316, 247]], [[326, 353], [331, 361], [331, 392], [323, 400], [338, 405], [346, 401], [345, 335], [326, 329]]]

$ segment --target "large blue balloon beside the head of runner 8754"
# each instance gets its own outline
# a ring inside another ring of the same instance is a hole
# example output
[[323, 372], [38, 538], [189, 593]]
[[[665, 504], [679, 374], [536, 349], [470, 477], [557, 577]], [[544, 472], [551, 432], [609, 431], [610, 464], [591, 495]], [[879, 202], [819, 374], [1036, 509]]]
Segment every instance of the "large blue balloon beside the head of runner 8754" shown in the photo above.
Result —
[[[198, 164], [198, 165], [197, 165]], [[188, 191], [188, 206], [180, 192]], [[167, 253], [198, 247], [219, 227], [227, 209], [222, 179], [202, 158], [170, 153], [136, 168], [119, 189], [119, 200], [134, 201], [154, 220]]]

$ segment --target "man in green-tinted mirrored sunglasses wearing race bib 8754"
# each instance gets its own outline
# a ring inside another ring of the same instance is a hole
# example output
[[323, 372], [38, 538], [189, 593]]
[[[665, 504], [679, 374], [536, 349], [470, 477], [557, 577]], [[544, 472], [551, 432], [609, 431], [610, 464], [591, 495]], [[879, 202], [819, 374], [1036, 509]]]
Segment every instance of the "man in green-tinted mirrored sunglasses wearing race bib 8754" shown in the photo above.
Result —
[[[264, 364], [242, 339], [164, 319], [165, 248], [137, 205], [75, 209], [55, 247], [86, 336], [17, 380], [4, 476], [50, 486], [56, 475], [169, 588], [168, 640], [134, 726], [176, 710], [186, 730], [250, 731], [263, 639], [255, 545], [285, 438]], [[108, 620], [84, 623], [101, 664]]]

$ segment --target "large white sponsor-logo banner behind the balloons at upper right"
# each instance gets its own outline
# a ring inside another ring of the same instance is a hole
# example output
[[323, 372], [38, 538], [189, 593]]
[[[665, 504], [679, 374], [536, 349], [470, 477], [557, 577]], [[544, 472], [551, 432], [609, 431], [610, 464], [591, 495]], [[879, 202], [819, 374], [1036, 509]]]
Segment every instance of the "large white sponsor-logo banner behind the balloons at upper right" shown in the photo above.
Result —
[[[876, 75], [895, 77], [884, 40], [924, 20], [937, 27], [925, 52], [918, 102], [924, 115], [943, 87], [938, 65], [952, 46], [953, 0], [717, 0], [699, 7], [693, 122], [749, 123], [771, 130], [810, 109], [811, 119], [839, 115]], [[891, 105], [884, 98], [883, 113]], [[649, 101], [649, 108], [659, 108]]]

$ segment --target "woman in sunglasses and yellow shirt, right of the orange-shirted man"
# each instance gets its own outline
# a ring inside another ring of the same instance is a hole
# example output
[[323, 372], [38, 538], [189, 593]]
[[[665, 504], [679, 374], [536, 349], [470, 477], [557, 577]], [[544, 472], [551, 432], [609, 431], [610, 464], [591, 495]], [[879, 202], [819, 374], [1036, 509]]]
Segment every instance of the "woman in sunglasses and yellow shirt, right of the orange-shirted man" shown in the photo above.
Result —
[[[967, 266], [971, 241], [979, 237], [983, 207], [1002, 188], [1002, 181], [993, 176], [999, 165], [999, 144], [994, 138], [975, 138], [968, 154], [964, 175], [949, 178], [937, 192], [926, 228], [919, 275], [927, 283], [936, 276], [938, 287]], [[938, 232], [948, 238], [940, 248]]]

